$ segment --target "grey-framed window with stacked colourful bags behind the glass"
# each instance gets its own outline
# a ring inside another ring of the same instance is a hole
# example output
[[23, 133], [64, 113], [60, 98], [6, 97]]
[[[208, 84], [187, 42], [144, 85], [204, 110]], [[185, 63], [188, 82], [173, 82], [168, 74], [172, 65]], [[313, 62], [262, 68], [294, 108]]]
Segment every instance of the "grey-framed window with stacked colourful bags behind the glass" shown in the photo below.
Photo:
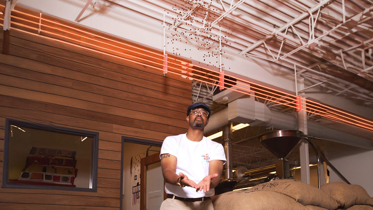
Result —
[[6, 119], [3, 187], [97, 192], [98, 133]]

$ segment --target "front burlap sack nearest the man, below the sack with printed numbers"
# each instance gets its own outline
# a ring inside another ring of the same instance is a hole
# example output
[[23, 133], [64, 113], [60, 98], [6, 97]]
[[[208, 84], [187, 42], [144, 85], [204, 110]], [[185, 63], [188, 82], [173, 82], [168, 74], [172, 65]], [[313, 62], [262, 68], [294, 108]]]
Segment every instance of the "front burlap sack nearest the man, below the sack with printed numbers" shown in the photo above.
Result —
[[293, 198], [277, 192], [232, 191], [217, 195], [214, 210], [306, 210]]

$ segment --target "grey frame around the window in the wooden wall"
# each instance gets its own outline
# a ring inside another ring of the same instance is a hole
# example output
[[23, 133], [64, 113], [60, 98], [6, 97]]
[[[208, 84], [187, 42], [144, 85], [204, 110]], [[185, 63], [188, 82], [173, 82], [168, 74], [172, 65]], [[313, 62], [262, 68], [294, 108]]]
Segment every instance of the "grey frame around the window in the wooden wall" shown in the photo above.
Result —
[[[9, 155], [9, 133], [10, 126], [28, 127], [31, 129], [45, 130], [49, 132], [64, 133], [69, 135], [88, 136], [93, 138], [92, 142], [92, 158], [91, 158], [91, 188], [76, 188], [68, 186], [44, 186], [44, 185], [28, 185], [8, 183], [8, 155]], [[82, 192], [97, 192], [97, 170], [98, 170], [98, 132], [88, 130], [78, 130], [67, 127], [50, 126], [34, 122], [25, 122], [19, 120], [5, 119], [5, 135], [4, 135], [4, 159], [3, 159], [3, 188], [18, 188], [18, 189], [50, 189], [50, 190], [68, 190]]]

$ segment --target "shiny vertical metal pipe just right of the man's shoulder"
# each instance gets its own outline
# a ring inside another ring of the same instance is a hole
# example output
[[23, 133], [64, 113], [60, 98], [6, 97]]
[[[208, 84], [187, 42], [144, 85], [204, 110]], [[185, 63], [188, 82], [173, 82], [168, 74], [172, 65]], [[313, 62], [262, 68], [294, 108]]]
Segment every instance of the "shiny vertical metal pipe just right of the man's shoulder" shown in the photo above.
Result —
[[232, 127], [233, 123], [228, 123], [223, 127], [223, 146], [227, 162], [224, 164], [225, 179], [233, 179], [232, 172]]

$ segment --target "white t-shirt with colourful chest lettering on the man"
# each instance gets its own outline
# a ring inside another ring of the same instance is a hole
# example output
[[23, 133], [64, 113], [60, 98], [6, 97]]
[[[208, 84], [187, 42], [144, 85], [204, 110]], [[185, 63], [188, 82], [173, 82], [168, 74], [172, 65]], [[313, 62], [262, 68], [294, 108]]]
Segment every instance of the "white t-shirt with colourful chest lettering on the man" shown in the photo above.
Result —
[[[168, 136], [164, 139], [160, 154], [170, 154], [177, 158], [176, 174], [184, 173], [188, 179], [198, 184], [205, 176], [209, 175], [209, 162], [222, 160], [225, 164], [225, 153], [222, 144], [216, 143], [206, 137], [199, 142], [186, 138], [186, 133], [178, 136]], [[195, 188], [171, 185], [166, 183], [164, 190], [182, 198], [201, 198], [215, 194], [214, 189], [208, 192], [196, 192]]]

